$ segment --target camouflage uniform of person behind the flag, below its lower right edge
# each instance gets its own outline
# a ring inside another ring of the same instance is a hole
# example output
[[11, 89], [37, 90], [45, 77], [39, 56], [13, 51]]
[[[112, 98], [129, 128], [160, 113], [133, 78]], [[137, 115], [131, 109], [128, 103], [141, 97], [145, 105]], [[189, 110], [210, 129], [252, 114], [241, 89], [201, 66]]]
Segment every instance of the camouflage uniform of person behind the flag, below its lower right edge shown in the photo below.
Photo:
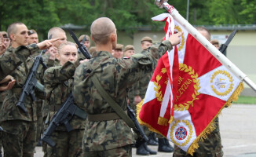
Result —
[[[204, 141], [199, 141], [199, 148], [194, 152], [193, 157], [222, 157], [221, 134], [219, 130], [218, 118], [215, 120], [216, 129], [207, 136]], [[181, 148], [174, 145], [174, 157], [192, 157], [186, 154]]]

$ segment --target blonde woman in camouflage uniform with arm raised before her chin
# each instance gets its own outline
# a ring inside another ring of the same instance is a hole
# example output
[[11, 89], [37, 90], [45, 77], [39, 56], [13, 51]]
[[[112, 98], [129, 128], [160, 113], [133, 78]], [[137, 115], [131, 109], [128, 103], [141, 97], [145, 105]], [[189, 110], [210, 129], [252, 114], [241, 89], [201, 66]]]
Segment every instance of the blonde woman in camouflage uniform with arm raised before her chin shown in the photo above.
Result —
[[[73, 75], [75, 68], [79, 65], [75, 43], [63, 42], [60, 44], [57, 59], [60, 60], [60, 66], [48, 68], [44, 75], [49, 119], [53, 118], [53, 115], [68, 98], [69, 93], [72, 92]], [[52, 139], [57, 145], [54, 148], [47, 146], [47, 156], [76, 157], [82, 155], [85, 119], [74, 115], [70, 124], [74, 129], [71, 132], [68, 132], [63, 124], [53, 132]]]

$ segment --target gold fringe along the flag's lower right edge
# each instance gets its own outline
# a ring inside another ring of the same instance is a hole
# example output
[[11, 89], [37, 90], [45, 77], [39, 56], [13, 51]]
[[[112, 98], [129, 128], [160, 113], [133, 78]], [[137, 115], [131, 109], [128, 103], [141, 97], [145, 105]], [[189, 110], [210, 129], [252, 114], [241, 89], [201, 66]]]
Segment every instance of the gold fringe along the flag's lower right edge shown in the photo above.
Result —
[[202, 131], [202, 133], [199, 134], [199, 136], [196, 138], [195, 141], [189, 146], [188, 148], [188, 154], [193, 155], [195, 150], [199, 148], [199, 141], [203, 141], [207, 139], [207, 135], [210, 134], [214, 129], [216, 124], [214, 123], [214, 120], [220, 115], [223, 108], [229, 107], [232, 103], [232, 101], [238, 100], [238, 97], [240, 96], [240, 93], [243, 90], [243, 82], [240, 82], [240, 85], [236, 88], [236, 90], [232, 93], [231, 97], [229, 97], [229, 100], [226, 101], [226, 103], [222, 106], [220, 111], [218, 111], [218, 114], [215, 115], [214, 119], [211, 120], [211, 122], [208, 124], [208, 126]]

